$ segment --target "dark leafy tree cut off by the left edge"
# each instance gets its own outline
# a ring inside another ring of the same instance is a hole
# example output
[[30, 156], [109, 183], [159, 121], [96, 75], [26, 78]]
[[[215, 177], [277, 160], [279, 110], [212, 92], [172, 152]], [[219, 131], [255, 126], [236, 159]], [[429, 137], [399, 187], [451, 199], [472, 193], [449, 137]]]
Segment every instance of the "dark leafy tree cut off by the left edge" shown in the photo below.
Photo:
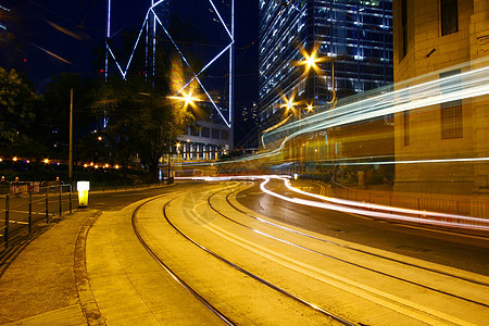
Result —
[[0, 148], [11, 148], [18, 137], [27, 134], [37, 99], [16, 71], [0, 67]]

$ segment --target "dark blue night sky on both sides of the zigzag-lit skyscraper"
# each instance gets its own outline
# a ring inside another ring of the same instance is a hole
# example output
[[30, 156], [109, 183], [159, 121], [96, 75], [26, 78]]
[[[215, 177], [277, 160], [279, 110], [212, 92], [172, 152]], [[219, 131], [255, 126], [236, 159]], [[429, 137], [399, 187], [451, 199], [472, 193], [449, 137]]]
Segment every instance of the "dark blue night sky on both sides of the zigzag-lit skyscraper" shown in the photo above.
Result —
[[[105, 0], [0, 0], [0, 5], [10, 9], [0, 11], [7, 26], [0, 29], [0, 65], [24, 72], [38, 90], [60, 72], [95, 75], [103, 68], [95, 53], [103, 53]], [[258, 1], [235, 0], [235, 12], [239, 123], [240, 109], [258, 100]]]

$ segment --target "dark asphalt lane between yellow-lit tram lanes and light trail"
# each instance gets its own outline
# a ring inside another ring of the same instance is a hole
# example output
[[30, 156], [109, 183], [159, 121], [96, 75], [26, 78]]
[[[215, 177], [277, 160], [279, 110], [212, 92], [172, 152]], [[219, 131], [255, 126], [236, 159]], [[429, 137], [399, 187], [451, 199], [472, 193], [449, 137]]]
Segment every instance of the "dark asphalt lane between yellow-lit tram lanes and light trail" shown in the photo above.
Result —
[[[319, 192], [318, 184], [296, 184]], [[271, 188], [290, 192], [280, 181]], [[485, 237], [292, 204], [263, 193], [258, 185], [242, 191], [238, 201], [273, 220], [325, 236], [489, 276], [489, 239]]]

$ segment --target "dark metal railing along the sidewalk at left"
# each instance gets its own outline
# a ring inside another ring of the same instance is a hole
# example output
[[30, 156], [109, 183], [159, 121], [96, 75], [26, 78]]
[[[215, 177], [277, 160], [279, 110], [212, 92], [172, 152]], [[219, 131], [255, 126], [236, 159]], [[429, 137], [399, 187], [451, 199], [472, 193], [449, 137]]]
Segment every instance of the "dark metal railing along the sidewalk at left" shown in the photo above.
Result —
[[33, 233], [38, 224], [50, 224], [55, 216], [73, 213], [72, 185], [50, 185], [37, 189], [26, 188], [0, 197], [4, 209], [4, 224], [0, 227], [0, 243], [9, 247], [11, 239], [23, 233]]

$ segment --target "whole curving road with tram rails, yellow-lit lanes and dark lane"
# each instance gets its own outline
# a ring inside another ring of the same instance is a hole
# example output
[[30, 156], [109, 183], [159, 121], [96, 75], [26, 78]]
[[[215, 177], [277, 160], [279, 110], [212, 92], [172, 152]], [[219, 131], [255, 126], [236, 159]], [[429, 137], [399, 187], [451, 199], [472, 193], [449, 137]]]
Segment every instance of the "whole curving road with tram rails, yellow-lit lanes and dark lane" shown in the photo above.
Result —
[[[87, 242], [88, 276], [105, 321], [130, 323], [128, 310], [148, 324], [489, 318], [488, 239], [305, 208], [263, 193], [258, 183], [181, 184], [130, 206], [141, 195], [93, 197], [93, 208], [115, 205]], [[266, 188], [300, 197], [280, 180]]]

